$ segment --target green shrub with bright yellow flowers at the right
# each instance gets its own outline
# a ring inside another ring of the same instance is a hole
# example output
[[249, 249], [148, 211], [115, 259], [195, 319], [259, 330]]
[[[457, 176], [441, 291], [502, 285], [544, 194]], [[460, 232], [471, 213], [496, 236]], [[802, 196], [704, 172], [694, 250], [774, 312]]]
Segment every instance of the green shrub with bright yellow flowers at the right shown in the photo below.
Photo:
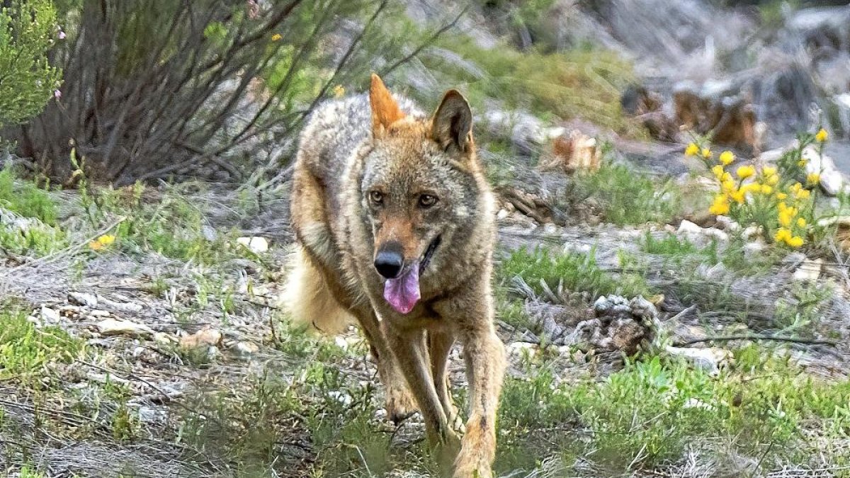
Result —
[[803, 151], [816, 145], [823, 152], [828, 134], [799, 134], [798, 145], [786, 151], [776, 166], [739, 166], [732, 168], [735, 156], [723, 151], [717, 160], [705, 140], [698, 139], [685, 149], [685, 155], [698, 156], [717, 180], [719, 191], [709, 213], [728, 215], [740, 225], [756, 225], [768, 242], [799, 248], [815, 224], [814, 202], [820, 174], [806, 173]]

